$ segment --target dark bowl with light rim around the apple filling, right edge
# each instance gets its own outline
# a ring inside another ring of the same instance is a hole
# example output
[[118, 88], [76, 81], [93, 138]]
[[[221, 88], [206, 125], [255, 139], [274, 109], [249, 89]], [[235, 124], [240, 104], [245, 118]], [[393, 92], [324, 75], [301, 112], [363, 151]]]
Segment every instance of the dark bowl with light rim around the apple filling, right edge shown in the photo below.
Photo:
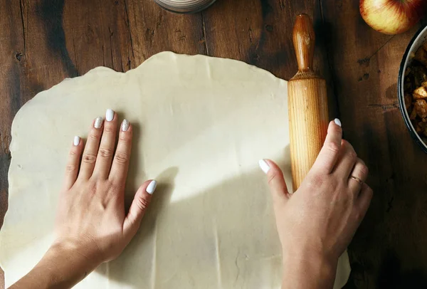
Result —
[[404, 117], [406, 127], [408, 127], [409, 133], [413, 140], [416, 141], [417, 144], [420, 145], [421, 149], [427, 153], [427, 144], [421, 139], [421, 137], [416, 133], [415, 127], [413, 127], [411, 120], [409, 119], [408, 111], [405, 107], [405, 99], [404, 99], [404, 75], [406, 67], [411, 64], [413, 56], [415, 52], [420, 48], [424, 42], [427, 41], [427, 26], [418, 30], [411, 42], [408, 44], [408, 48], [406, 48], [404, 58], [402, 59], [400, 68], [399, 68], [399, 78], [397, 80], [397, 95], [399, 98], [399, 107]]

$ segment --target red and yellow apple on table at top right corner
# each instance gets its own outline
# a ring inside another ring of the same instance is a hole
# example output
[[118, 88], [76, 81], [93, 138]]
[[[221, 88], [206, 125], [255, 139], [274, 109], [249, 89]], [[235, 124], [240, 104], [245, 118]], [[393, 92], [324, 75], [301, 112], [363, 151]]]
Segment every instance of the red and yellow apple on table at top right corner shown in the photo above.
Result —
[[364, 21], [376, 31], [399, 34], [426, 14], [427, 0], [360, 0], [359, 8]]

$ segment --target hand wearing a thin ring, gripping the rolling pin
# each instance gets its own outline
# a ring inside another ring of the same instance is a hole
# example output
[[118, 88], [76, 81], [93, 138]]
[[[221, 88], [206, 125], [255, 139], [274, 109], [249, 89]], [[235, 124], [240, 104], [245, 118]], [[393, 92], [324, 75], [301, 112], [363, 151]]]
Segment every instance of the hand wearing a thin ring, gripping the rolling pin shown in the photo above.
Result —
[[[352, 145], [342, 140], [342, 128], [336, 120], [330, 122], [325, 144], [294, 194], [288, 192], [277, 164], [266, 159], [260, 161], [260, 167], [273, 194], [283, 246], [283, 288], [332, 288], [338, 258], [371, 202], [372, 190], [364, 183], [367, 166]], [[302, 280], [289, 278], [301, 272]]]

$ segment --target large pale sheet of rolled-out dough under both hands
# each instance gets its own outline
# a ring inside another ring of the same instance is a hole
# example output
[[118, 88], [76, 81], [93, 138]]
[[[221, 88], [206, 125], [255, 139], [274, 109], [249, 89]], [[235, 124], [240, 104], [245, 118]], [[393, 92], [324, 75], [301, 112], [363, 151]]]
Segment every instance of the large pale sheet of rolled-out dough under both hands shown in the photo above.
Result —
[[[68, 149], [107, 108], [134, 125], [126, 199], [157, 179], [122, 256], [75, 288], [280, 288], [281, 249], [258, 159], [290, 182], [287, 83], [240, 61], [159, 53], [127, 73], [95, 68], [24, 105], [12, 125], [6, 285], [53, 240]], [[334, 288], [347, 282], [347, 253]]]

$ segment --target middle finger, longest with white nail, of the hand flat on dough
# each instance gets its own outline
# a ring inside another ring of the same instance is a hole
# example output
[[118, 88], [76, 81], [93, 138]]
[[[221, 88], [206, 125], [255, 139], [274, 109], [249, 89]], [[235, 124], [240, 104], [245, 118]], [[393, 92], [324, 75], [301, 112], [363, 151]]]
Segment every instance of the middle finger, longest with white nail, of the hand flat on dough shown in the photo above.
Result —
[[117, 133], [117, 115], [113, 110], [105, 112], [104, 131], [102, 132], [100, 149], [93, 174], [101, 179], [107, 179], [110, 174], [112, 155], [114, 154], [115, 138]]

